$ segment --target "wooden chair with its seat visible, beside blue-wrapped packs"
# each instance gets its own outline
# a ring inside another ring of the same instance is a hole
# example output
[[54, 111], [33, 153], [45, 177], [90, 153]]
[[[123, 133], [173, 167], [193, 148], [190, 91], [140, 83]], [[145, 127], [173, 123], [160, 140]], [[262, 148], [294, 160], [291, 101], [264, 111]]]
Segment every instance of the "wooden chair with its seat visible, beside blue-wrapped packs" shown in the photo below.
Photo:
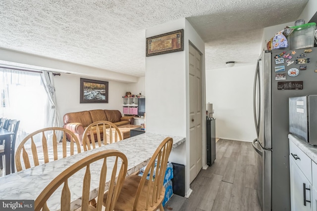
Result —
[[[153, 154], [142, 177], [135, 174], [126, 177], [114, 211], [156, 211], [157, 209], [164, 211], [162, 206], [165, 194], [163, 181], [172, 146], [173, 139], [166, 137]], [[104, 206], [106, 206], [107, 200], [108, 194], [106, 193]]]

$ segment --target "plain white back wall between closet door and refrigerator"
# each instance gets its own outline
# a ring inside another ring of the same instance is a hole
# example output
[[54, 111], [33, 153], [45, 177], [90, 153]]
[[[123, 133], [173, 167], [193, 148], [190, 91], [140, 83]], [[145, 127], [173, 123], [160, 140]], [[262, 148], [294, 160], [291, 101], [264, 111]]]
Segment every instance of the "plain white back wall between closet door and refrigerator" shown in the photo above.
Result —
[[206, 71], [206, 101], [212, 103], [216, 137], [253, 141], [253, 81], [256, 64]]

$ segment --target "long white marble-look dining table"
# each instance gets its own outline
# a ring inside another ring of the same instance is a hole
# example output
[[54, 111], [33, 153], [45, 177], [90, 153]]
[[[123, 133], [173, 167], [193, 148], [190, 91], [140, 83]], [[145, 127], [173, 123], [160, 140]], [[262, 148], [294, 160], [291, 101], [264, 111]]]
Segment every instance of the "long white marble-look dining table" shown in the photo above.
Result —
[[[43, 164], [31, 169], [25, 169], [19, 172], [15, 172], [3, 177], [0, 177], [1, 200], [35, 200], [43, 189], [64, 169], [70, 167], [75, 162], [107, 149], [115, 149], [124, 153], [128, 159], [127, 175], [130, 175], [142, 167], [146, 166], [151, 159], [153, 153], [161, 143], [161, 141], [167, 136], [173, 138], [172, 151], [185, 142], [185, 137], [170, 136], [164, 134], [155, 133], [143, 133], [137, 136], [133, 136], [122, 141], [107, 144], [102, 147], [98, 147], [93, 150], [81, 152], [73, 156], [62, 158], [56, 161], [52, 161], [47, 164]], [[98, 163], [98, 162], [97, 162]], [[108, 165], [108, 168], [111, 165]], [[100, 165], [91, 165], [91, 192], [90, 199], [97, 197], [99, 176], [93, 176], [100, 172]], [[81, 172], [80, 172], [81, 171]], [[71, 177], [68, 181], [68, 185], [71, 191], [71, 208], [77, 209], [81, 205], [82, 183], [85, 170], [80, 170], [74, 177]], [[109, 173], [109, 175], [108, 175]], [[107, 171], [107, 177], [110, 178], [110, 171]], [[99, 174], [98, 174], [99, 175]], [[106, 186], [106, 185], [105, 185]], [[51, 210], [58, 210], [60, 206], [60, 191], [59, 187], [48, 201], [48, 206]]]

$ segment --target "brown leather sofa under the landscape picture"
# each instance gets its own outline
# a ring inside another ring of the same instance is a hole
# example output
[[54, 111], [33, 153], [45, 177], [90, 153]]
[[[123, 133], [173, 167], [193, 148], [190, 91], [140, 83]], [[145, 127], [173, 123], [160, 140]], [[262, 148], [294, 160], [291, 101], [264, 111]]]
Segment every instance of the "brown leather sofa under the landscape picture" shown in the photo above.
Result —
[[133, 125], [133, 117], [122, 117], [118, 110], [91, 110], [67, 113], [64, 115], [64, 128], [75, 133], [82, 144], [86, 127], [97, 121], [109, 121], [116, 126]]

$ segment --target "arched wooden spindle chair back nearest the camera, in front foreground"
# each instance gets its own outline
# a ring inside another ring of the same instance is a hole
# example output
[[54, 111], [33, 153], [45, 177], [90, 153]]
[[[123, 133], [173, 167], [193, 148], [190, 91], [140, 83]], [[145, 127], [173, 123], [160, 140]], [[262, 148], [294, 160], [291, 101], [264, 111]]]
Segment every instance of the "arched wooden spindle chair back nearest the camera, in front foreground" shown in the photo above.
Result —
[[[90, 172], [90, 165], [100, 160], [103, 161], [103, 163], [100, 162], [100, 181], [97, 196], [97, 206], [95, 208], [89, 204], [90, 181], [91, 177], [94, 176], [94, 174]], [[81, 210], [101, 211], [103, 208], [103, 195], [106, 191], [106, 193], [111, 197], [109, 197], [105, 203], [105, 211], [113, 211], [119, 192], [122, 188], [124, 178], [127, 173], [127, 165], [127, 157], [118, 150], [104, 150], [87, 156], [86, 158], [76, 162], [69, 168], [65, 169], [57, 177], [55, 177], [52, 182], [48, 184], [48, 186], [46, 186], [46, 188], [42, 191], [42, 193], [34, 202], [35, 211], [40, 211], [42, 208], [43, 211], [49, 211], [46, 202], [49, 200], [50, 196], [55, 192], [55, 190], [62, 184], [63, 188], [60, 197], [60, 210], [69, 211], [71, 207], [70, 205], [72, 191], [70, 190], [71, 187], [68, 187], [68, 179], [81, 169], [86, 169], [85, 174], [82, 178], [83, 185]], [[111, 174], [108, 173], [108, 175], [111, 175], [110, 178], [106, 177], [107, 171], [111, 172]], [[105, 190], [105, 186], [108, 187], [107, 190]], [[74, 190], [74, 192], [77, 192], [77, 189]], [[57, 208], [54, 209], [57, 210]]]

